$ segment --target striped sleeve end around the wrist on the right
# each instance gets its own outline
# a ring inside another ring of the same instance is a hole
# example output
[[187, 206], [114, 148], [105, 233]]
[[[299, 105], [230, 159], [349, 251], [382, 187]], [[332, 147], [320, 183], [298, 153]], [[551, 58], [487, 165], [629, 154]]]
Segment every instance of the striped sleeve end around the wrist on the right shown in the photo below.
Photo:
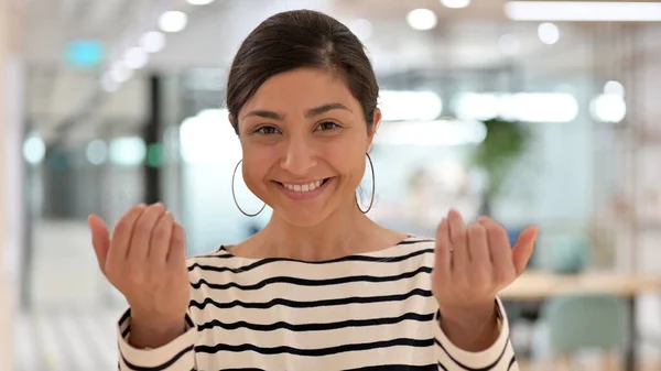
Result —
[[[438, 370], [443, 371], [518, 371], [519, 365], [514, 357], [514, 350], [510, 341], [510, 329], [505, 308], [500, 299], [497, 299], [498, 317], [501, 321], [500, 336], [489, 348], [480, 352], [469, 352], [457, 348], [449, 341], [447, 336], [435, 326], [436, 356]], [[436, 314], [437, 319], [438, 314]]]

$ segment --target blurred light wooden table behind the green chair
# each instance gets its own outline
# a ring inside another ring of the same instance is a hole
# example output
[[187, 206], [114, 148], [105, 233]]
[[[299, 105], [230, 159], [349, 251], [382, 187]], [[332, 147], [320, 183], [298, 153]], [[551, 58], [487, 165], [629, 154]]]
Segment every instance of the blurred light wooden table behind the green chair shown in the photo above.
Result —
[[527, 271], [500, 292], [503, 301], [541, 302], [566, 294], [609, 294], [627, 298], [630, 305], [628, 345], [625, 368], [636, 371], [636, 296], [646, 292], [661, 292], [661, 275], [637, 275], [617, 272], [586, 272], [561, 275], [543, 271]]

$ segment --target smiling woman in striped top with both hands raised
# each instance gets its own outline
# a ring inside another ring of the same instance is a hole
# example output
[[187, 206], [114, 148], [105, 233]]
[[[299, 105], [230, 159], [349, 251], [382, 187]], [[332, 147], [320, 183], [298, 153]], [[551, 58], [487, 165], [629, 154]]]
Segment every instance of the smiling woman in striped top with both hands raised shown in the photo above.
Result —
[[112, 239], [90, 217], [99, 265], [130, 305], [120, 370], [517, 369], [496, 294], [523, 270], [537, 230], [511, 249], [498, 223], [466, 226], [456, 211], [435, 241], [365, 216], [356, 189], [377, 97], [362, 45], [327, 15], [275, 14], [248, 36], [227, 105], [246, 184], [273, 216], [247, 241], [188, 260], [161, 204], [129, 210]]

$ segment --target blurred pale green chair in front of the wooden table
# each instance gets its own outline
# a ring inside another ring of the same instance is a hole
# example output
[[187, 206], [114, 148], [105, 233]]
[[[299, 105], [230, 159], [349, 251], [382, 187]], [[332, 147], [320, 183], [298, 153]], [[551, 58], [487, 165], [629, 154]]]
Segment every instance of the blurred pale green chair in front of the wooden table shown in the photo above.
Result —
[[[603, 294], [563, 295], [543, 304], [541, 318], [548, 326], [548, 346], [555, 361], [571, 367], [581, 350], [605, 351], [600, 370], [617, 370], [614, 350], [627, 345], [629, 306], [622, 298]], [[553, 370], [560, 370], [554, 368]]]

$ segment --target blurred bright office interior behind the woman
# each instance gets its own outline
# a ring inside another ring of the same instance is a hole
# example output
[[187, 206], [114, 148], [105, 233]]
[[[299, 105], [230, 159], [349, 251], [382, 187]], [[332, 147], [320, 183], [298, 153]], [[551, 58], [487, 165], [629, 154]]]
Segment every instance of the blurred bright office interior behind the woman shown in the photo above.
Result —
[[189, 254], [268, 221], [232, 201], [224, 88], [250, 30], [299, 8], [375, 64], [376, 220], [541, 227], [503, 293], [522, 369], [661, 370], [661, 3], [505, 0], [0, 0], [0, 370], [117, 367], [88, 214], [162, 200]]

